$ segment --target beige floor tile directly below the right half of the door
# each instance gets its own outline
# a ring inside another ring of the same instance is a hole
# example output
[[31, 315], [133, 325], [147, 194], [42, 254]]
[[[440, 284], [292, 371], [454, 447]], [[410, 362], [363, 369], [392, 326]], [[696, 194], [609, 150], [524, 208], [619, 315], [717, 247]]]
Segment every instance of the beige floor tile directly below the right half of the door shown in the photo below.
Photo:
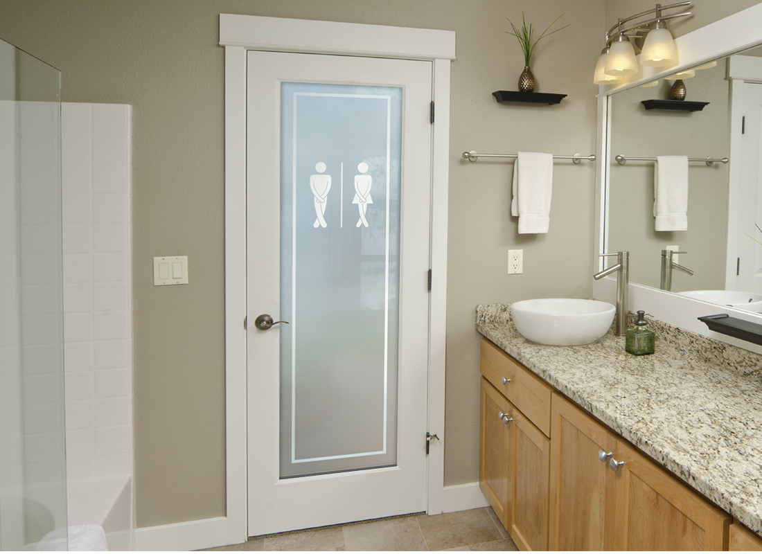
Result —
[[415, 517], [345, 525], [342, 530], [347, 551], [426, 550], [426, 541]]

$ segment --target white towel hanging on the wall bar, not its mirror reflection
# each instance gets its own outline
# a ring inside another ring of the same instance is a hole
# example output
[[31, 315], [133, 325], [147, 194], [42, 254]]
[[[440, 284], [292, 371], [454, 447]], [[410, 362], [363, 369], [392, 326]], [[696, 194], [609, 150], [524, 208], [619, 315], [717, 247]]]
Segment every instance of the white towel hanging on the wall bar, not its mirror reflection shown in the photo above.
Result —
[[548, 232], [552, 185], [552, 154], [518, 152], [511, 215], [518, 216], [520, 233]]

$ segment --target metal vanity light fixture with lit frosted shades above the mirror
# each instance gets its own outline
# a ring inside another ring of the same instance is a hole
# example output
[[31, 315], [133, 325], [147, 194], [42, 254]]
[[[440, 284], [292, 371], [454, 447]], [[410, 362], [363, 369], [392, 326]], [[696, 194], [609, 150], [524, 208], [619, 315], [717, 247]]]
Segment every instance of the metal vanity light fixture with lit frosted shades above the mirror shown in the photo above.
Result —
[[[640, 55], [640, 65], [649, 67], [671, 67], [677, 65], [677, 48], [674, 45], [672, 35], [667, 29], [666, 21], [690, 15], [691, 12], [686, 11], [680, 14], [665, 15], [662, 11], [690, 4], [691, 2], [678, 2], [677, 4], [667, 6], [657, 4], [651, 10], [642, 11], [629, 18], [620, 19], [606, 34], [604, 52], [608, 49], [608, 53], [601, 54], [600, 58], [598, 58], [593, 82], [597, 85], [611, 82], [610, 79], [602, 78], [600, 75], [601, 65], [604, 65], [606, 75], [612, 75], [616, 78], [625, 78], [627, 75], [635, 75], [638, 72], [635, 50], [632, 48], [629, 37], [636, 37], [636, 40], [642, 40], [645, 37]], [[648, 19], [648, 16], [652, 14], [655, 17]], [[641, 18], [646, 19], [637, 21], [635, 24], [629, 24], [629, 22]]]

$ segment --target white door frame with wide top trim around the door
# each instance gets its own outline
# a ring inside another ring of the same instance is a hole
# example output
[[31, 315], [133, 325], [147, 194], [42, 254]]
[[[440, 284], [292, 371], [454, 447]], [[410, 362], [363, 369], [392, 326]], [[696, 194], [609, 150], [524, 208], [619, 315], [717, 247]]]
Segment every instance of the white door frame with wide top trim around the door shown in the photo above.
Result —
[[225, 46], [225, 377], [228, 544], [247, 538], [246, 460], [246, 51], [322, 53], [433, 62], [429, 296], [427, 513], [443, 511], [444, 361], [447, 307], [447, 187], [450, 62], [455, 32], [382, 25], [219, 15]]

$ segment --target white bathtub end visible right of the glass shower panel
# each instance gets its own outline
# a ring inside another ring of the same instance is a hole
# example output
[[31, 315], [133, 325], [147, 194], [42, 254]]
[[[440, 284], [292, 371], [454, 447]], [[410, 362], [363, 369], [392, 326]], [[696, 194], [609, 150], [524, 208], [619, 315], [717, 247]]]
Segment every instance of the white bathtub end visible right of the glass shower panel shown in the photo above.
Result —
[[100, 525], [109, 550], [134, 549], [132, 476], [72, 479], [66, 483], [66, 495], [69, 526]]

